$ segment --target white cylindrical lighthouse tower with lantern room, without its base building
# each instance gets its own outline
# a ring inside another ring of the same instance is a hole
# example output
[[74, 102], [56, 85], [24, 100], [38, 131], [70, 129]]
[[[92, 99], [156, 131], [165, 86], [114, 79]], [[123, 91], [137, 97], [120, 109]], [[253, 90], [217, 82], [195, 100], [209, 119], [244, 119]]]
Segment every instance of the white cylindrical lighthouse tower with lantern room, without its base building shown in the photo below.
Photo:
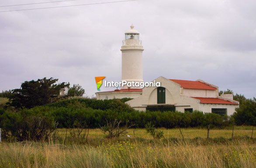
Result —
[[[121, 47], [122, 51], [122, 81], [143, 82], [142, 73], [142, 41], [139, 32], [131, 24], [130, 30], [125, 32], [125, 40]], [[122, 89], [127, 89], [127, 86]], [[134, 87], [136, 88], [136, 87]]]

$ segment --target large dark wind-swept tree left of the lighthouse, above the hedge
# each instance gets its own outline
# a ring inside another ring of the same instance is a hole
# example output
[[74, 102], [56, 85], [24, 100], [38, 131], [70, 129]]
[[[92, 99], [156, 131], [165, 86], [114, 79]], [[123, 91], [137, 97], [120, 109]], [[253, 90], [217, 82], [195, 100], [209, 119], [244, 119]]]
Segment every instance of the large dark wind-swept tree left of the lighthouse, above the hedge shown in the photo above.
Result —
[[12, 90], [9, 98], [9, 105], [15, 108], [33, 108], [39, 105], [45, 105], [57, 100], [59, 91], [69, 84], [55, 84], [58, 79], [43, 78], [37, 81], [25, 81], [20, 89]]

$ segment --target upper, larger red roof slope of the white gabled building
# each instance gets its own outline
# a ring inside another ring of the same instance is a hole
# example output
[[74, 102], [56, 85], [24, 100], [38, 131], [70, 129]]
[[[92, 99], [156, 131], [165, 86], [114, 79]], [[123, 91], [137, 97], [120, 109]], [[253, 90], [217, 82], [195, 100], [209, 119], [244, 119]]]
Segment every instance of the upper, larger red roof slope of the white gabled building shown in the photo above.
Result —
[[216, 90], [217, 89], [208, 84], [204, 84], [200, 81], [186, 81], [186, 80], [177, 80], [177, 79], [170, 79], [170, 80], [177, 84], [180, 84], [180, 87], [183, 87], [185, 89], [205, 89], [205, 90]]

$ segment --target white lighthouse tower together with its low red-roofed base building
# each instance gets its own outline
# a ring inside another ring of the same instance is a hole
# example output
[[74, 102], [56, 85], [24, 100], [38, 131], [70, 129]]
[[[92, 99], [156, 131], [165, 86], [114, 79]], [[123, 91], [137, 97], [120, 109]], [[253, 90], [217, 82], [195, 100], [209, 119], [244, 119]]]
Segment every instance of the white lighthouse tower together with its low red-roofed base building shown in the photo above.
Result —
[[[121, 47], [122, 51], [122, 81], [143, 82], [142, 74], [142, 41], [139, 33], [131, 25], [131, 29], [125, 32], [125, 40]], [[113, 98], [136, 98], [142, 95], [142, 88], [128, 87], [127, 85], [114, 91], [96, 92], [97, 100]]]

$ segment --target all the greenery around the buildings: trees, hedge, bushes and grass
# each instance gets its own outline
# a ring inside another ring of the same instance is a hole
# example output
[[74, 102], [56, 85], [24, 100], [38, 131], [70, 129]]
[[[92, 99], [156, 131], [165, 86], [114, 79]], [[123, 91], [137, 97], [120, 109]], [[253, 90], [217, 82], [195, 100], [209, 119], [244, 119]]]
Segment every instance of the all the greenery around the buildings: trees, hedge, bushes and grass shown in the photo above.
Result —
[[140, 112], [130, 98], [71, 98], [85, 93], [78, 84], [59, 96], [69, 83], [57, 81], [0, 93], [0, 168], [256, 167], [255, 98], [234, 95], [240, 108], [231, 117]]

